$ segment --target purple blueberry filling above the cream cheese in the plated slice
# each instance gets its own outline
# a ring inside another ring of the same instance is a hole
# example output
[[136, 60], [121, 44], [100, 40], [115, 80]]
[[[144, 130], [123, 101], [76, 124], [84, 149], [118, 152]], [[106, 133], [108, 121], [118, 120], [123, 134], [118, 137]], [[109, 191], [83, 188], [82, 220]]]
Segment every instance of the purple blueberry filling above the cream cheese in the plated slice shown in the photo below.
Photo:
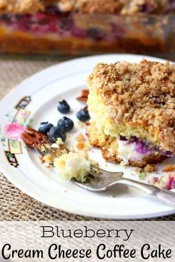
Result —
[[139, 154], [149, 155], [151, 153], [160, 152], [162, 155], [172, 156], [170, 151], [163, 151], [157, 146], [152, 146], [150, 142], [143, 142], [138, 137], [131, 136], [131, 139], [126, 139], [124, 136], [120, 136], [120, 141], [124, 141], [124, 144], [135, 143], [134, 151]]

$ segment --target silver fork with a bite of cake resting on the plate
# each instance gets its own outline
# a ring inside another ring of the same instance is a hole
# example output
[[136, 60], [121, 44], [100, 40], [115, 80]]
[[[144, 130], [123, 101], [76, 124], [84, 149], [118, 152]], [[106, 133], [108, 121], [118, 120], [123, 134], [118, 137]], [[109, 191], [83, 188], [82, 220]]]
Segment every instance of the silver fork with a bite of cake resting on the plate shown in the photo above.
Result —
[[[52, 143], [46, 139], [45, 137], [43, 137], [44, 141], [48, 144], [48, 145], [52, 145]], [[52, 137], [52, 139], [56, 142], [56, 139], [54, 137]], [[38, 144], [43, 145], [40, 141], [38, 141]], [[50, 149], [48, 149], [45, 145], [44, 146], [44, 151], [42, 152], [38, 147], [36, 147], [33, 144], [35, 150], [43, 157], [46, 154], [51, 154], [52, 157], [57, 157], [55, 155], [55, 151], [59, 150], [60, 153], [62, 153], [62, 151], [60, 149], [54, 149], [52, 148], [52, 151]], [[71, 152], [69, 150], [69, 148], [67, 148], [66, 146], [64, 146], [65, 149], [67, 150], [67, 152]], [[53, 164], [52, 164], [53, 165]], [[142, 190], [143, 192], [145, 192], [148, 195], [151, 196], [155, 196], [157, 197], [157, 199], [160, 199], [161, 201], [169, 204], [169, 205], [175, 205], [175, 193], [169, 191], [169, 190], [164, 190], [164, 189], [159, 189], [153, 185], [148, 185], [142, 182], [138, 182], [129, 178], [124, 178], [123, 177], [123, 172], [109, 172], [106, 170], [103, 170], [101, 168], [98, 168], [94, 165], [90, 165], [91, 167], [91, 171], [90, 173], [87, 175], [87, 179], [85, 182], [81, 182], [81, 181], [77, 181], [75, 178], [72, 178], [71, 181], [80, 186], [83, 187], [86, 190], [89, 191], [95, 191], [95, 192], [100, 192], [100, 191], [105, 191], [108, 188], [112, 187], [113, 185], [116, 184], [124, 184], [127, 186], [132, 186], [132, 187], [136, 187], [139, 190]]]

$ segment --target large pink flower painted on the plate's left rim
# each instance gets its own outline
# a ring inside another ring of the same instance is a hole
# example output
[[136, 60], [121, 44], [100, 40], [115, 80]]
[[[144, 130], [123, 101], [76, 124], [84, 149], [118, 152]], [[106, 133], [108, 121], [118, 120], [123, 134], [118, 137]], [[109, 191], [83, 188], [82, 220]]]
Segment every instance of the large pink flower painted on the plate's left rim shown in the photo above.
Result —
[[22, 126], [18, 123], [11, 123], [4, 126], [4, 133], [8, 139], [22, 141], [21, 133], [23, 133], [25, 129], [26, 126]]

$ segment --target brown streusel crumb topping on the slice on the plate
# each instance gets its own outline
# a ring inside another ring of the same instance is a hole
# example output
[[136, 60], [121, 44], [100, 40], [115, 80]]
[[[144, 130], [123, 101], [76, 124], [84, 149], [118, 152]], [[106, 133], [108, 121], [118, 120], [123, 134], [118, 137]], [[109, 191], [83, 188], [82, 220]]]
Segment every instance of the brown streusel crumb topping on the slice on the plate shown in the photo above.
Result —
[[87, 80], [103, 98], [114, 123], [139, 127], [175, 154], [175, 65], [143, 59], [99, 63]]

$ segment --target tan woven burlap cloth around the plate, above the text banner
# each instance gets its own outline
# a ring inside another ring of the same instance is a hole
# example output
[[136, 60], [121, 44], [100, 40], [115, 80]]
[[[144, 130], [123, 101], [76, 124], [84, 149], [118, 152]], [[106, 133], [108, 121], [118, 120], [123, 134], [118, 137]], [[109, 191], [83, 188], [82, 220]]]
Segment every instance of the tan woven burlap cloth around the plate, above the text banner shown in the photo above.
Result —
[[[175, 60], [172, 55], [163, 58]], [[0, 99], [23, 79], [68, 57], [1, 56]], [[23, 194], [0, 173], [0, 221], [2, 220], [100, 220], [68, 214]], [[102, 219], [101, 219], [102, 220]], [[152, 220], [175, 220], [175, 215]]]

